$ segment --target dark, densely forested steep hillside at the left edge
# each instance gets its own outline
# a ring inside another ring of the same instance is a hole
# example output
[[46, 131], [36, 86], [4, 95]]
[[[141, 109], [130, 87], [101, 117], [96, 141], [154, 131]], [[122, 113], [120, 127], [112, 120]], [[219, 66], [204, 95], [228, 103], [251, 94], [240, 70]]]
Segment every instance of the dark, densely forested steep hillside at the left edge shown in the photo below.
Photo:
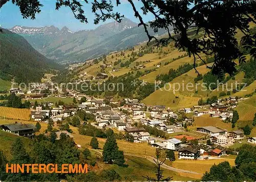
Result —
[[22, 36], [2, 29], [0, 32], [0, 78], [17, 83], [38, 82], [57, 64], [38, 53]]

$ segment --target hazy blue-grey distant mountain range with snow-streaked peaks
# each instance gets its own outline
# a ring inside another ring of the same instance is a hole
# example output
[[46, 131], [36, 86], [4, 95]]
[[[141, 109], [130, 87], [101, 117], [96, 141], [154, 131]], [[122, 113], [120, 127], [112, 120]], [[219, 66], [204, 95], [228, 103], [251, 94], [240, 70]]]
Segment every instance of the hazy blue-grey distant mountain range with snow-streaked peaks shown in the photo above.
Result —
[[[72, 32], [67, 27], [61, 30], [49, 27], [15, 26], [10, 31], [22, 35], [37, 51], [58, 62], [80, 62], [108, 54], [112, 51], [133, 47], [147, 40], [143, 27], [130, 19], [121, 23], [110, 22], [94, 30]], [[154, 35], [154, 31], [150, 30]], [[160, 29], [158, 35], [165, 33]]]

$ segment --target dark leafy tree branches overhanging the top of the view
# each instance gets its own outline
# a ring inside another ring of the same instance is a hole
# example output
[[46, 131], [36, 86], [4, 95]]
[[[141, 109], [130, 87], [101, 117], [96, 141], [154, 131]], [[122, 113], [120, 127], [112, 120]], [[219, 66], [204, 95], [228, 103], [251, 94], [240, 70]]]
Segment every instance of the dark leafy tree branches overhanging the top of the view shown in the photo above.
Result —
[[[0, 7], [6, 2], [7, 0], [1, 2]], [[84, 2], [89, 4], [88, 1]], [[149, 42], [154, 40], [157, 44], [166, 44], [169, 40], [173, 40], [176, 48], [186, 50], [189, 56], [194, 56], [194, 62], [196, 62], [196, 56], [205, 62], [199, 56], [199, 53], [204, 53], [208, 56], [212, 55], [215, 59], [214, 65], [211, 67], [214, 74], [224, 72], [231, 75], [236, 71], [236, 63], [233, 60], [242, 56], [235, 37], [237, 29], [244, 34], [242, 44], [250, 48], [251, 55], [255, 56], [256, 54], [256, 35], [251, 35], [249, 29], [249, 23], [255, 23], [256, 16], [256, 5], [253, 0], [176, 0], [169, 3], [164, 1], [142, 1], [142, 12], [138, 11], [133, 0], [128, 2], [132, 6], [135, 17], [139, 19], [139, 26], [144, 29]], [[31, 17], [32, 19], [35, 18], [35, 13], [40, 12], [40, 7], [42, 6], [37, 0], [23, 3], [13, 1], [13, 4], [19, 6], [20, 12], [25, 18]], [[121, 4], [121, 1], [117, 0], [116, 6], [119, 4]], [[80, 2], [58, 0], [56, 9], [58, 10], [62, 6], [69, 7], [75, 18], [81, 22], [88, 22]], [[94, 1], [91, 3], [89, 8], [95, 14], [94, 23], [99, 24], [100, 21], [110, 18], [120, 22], [123, 16], [119, 12], [114, 13], [113, 7], [111, 1]], [[155, 17], [155, 20], [145, 23], [141, 14], [151, 14]], [[219, 21], [220, 19], [222, 21]], [[158, 40], [154, 34], [152, 35], [148, 31], [149, 27], [154, 30], [154, 33], [159, 32], [160, 29], [165, 29], [168, 38]], [[172, 36], [170, 27], [173, 28], [174, 33], [178, 36]], [[196, 35], [203, 31], [203, 38], [198, 36], [189, 38], [187, 32], [191, 28], [196, 29]]]

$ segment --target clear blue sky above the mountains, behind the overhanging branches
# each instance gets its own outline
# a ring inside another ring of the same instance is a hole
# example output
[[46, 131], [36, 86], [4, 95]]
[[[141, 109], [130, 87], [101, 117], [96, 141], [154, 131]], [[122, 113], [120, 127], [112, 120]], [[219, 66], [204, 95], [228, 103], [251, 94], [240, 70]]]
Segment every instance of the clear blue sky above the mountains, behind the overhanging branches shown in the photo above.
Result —
[[[55, 10], [55, 2], [54, 0], [41, 0], [40, 3], [44, 5], [41, 8], [41, 12], [36, 14], [36, 19], [23, 19], [20, 14], [19, 8], [9, 1], [0, 9], [0, 25], [3, 28], [12, 28], [16, 25], [19, 26], [27, 26], [27, 27], [44, 27], [44, 26], [55, 26], [61, 29], [64, 26], [67, 26], [72, 31], [84, 30], [84, 29], [95, 29], [99, 25], [94, 25], [93, 18], [94, 14], [91, 11], [91, 5], [84, 4], [84, 12], [86, 12], [86, 16], [88, 17], [88, 24], [81, 23], [79, 20], [75, 19], [73, 13], [69, 8], [61, 7], [59, 11]], [[90, 2], [90, 0], [89, 0]], [[115, 1], [113, 1], [115, 2]], [[140, 7], [140, 2], [135, 2], [136, 7]], [[115, 3], [114, 3], [115, 5]], [[138, 22], [138, 19], [134, 17], [134, 12], [131, 8], [131, 5], [126, 0], [121, 0], [121, 5], [116, 7], [115, 11], [119, 11], [125, 17]], [[144, 16], [145, 21], [150, 21], [153, 19], [153, 16], [148, 15]], [[113, 21], [109, 20], [108, 22]], [[101, 24], [105, 24], [106, 22], [101, 22]], [[100, 25], [101, 25], [100, 24]]]

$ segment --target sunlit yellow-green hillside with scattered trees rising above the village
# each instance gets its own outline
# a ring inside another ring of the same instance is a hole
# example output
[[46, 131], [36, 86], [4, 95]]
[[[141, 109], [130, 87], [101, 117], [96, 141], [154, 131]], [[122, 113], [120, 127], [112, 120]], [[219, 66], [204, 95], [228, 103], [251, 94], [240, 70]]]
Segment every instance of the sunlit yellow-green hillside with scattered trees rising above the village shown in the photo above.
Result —
[[[130, 29], [129, 31], [132, 31]], [[251, 32], [255, 31], [255, 27], [251, 27]], [[200, 37], [191, 30], [190, 38]], [[238, 39], [241, 34], [237, 34]], [[130, 41], [132, 41], [130, 39]], [[108, 44], [108, 42], [105, 42]], [[106, 46], [106, 49], [109, 46]], [[102, 48], [103, 49], [103, 48]], [[185, 51], [178, 50], [174, 47], [174, 42], [170, 42], [165, 47], [148, 47], [146, 43], [142, 43], [133, 48], [124, 49], [119, 52], [112, 52], [109, 55], [103, 55], [93, 60], [88, 61], [89, 64], [84, 64], [77, 70], [73, 70], [68, 74], [73, 82], [83, 82], [97, 77], [99, 73], [107, 74], [109, 78], [104, 79], [106, 85], [114, 83], [122, 83], [123, 90], [105, 90], [103, 92], [103, 84], [97, 91], [87, 90], [88, 95], [98, 97], [113, 96], [120, 98], [136, 98], [143, 100], [147, 105], [165, 105], [174, 109], [191, 107], [197, 105], [200, 98], [204, 100], [211, 97], [251, 97], [255, 92], [255, 59], [250, 57], [249, 50], [240, 48], [245, 56], [245, 62], [239, 63], [239, 60], [234, 60], [237, 64], [237, 71], [233, 75], [219, 73], [214, 75], [210, 69], [204, 65], [200, 59], [196, 58], [196, 69], [194, 69], [194, 58], [189, 57]], [[208, 66], [213, 64], [214, 59], [200, 54], [200, 57], [205, 60]], [[108, 65], [108, 66], [106, 66]], [[217, 80], [225, 84], [228, 90], [217, 89]], [[101, 82], [101, 80], [99, 80]], [[234, 83], [241, 83], [236, 89], [231, 86]], [[157, 84], [154, 84], [154, 83]], [[174, 84], [188, 83], [198, 86], [193, 89], [176, 89]], [[204, 89], [203, 85], [206, 85]], [[211, 84], [210, 83], [215, 83]], [[243, 83], [243, 84], [242, 84]], [[241, 90], [246, 83], [245, 90]], [[163, 88], [165, 84], [172, 87]], [[157, 87], [155, 87], [157, 85]], [[208, 86], [211, 86], [210, 89]]]

